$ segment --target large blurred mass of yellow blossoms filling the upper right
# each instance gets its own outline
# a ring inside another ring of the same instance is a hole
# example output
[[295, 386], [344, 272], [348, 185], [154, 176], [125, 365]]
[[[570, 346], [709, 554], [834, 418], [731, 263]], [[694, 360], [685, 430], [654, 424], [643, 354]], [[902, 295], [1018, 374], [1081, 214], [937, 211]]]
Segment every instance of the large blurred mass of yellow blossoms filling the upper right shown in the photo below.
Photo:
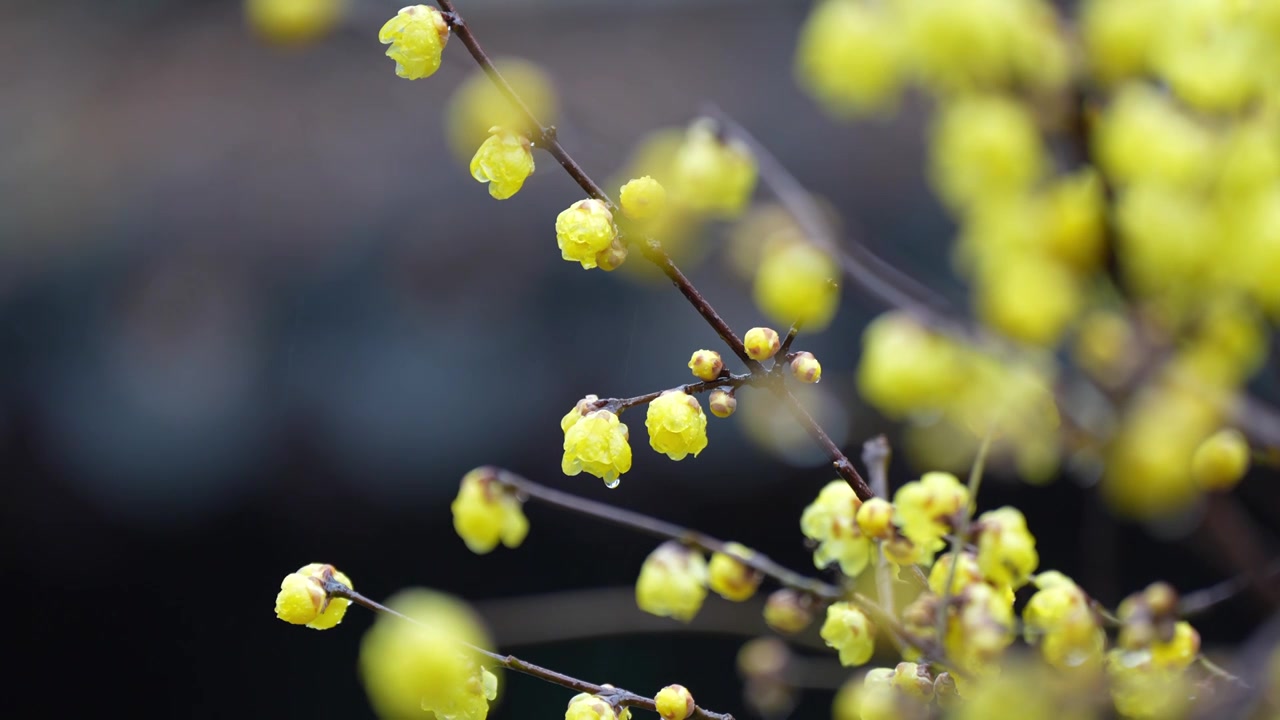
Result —
[[1020, 475], [1052, 477], [1047, 351], [1071, 342], [1119, 398], [1094, 448], [1114, 507], [1167, 514], [1243, 475], [1233, 450], [1202, 482], [1192, 452], [1280, 316], [1276, 17], [1229, 0], [1087, 0], [1074, 27], [1046, 0], [814, 5], [796, 73], [823, 108], [887, 111], [909, 82], [937, 100], [929, 177], [960, 225], [956, 268], [1014, 341], [978, 348], [902, 315], [868, 328], [860, 389], [911, 420], [923, 462], [960, 465], [995, 432]]

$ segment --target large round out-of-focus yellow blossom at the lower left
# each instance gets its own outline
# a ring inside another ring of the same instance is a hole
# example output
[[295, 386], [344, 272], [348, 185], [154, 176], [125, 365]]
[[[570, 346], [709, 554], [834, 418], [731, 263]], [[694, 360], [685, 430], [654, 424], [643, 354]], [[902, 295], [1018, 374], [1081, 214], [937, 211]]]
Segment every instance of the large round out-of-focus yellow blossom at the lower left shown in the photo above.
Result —
[[360, 643], [365, 692], [380, 717], [484, 720], [498, 696], [498, 678], [466, 644], [492, 643], [479, 618], [461, 601], [421, 588], [387, 605], [407, 618], [379, 615]]

